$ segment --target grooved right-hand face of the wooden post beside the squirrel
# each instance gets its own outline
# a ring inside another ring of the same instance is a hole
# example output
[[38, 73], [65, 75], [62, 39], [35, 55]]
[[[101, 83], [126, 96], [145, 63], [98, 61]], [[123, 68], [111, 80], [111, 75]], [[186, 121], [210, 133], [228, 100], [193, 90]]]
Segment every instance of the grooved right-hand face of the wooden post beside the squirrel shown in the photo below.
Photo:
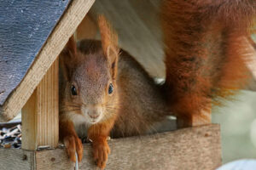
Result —
[[38, 85], [37, 105], [38, 146], [56, 147], [59, 142], [59, 59]]

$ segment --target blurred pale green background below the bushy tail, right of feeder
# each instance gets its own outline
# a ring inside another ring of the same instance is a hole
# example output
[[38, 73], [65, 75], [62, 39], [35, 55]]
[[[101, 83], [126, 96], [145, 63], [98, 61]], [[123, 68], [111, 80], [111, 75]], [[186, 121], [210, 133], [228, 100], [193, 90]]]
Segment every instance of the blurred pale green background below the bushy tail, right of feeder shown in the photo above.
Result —
[[256, 158], [256, 92], [242, 90], [233, 101], [213, 108], [212, 122], [219, 123], [223, 163]]

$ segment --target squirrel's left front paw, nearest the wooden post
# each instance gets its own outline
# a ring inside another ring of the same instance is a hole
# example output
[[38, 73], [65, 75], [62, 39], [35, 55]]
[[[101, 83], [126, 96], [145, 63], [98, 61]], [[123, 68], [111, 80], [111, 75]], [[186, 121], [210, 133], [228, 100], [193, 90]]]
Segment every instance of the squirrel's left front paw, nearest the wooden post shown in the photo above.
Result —
[[71, 161], [76, 161], [75, 152], [77, 151], [79, 161], [82, 161], [83, 157], [83, 144], [78, 136], [67, 136], [63, 139], [67, 148], [67, 155]]

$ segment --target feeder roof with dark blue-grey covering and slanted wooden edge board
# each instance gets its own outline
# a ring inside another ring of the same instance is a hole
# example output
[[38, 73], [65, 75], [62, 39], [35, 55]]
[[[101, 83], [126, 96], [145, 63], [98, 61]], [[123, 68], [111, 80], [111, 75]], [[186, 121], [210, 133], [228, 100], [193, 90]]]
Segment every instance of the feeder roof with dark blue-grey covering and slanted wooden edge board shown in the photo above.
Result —
[[0, 1], [0, 122], [25, 105], [92, 3]]

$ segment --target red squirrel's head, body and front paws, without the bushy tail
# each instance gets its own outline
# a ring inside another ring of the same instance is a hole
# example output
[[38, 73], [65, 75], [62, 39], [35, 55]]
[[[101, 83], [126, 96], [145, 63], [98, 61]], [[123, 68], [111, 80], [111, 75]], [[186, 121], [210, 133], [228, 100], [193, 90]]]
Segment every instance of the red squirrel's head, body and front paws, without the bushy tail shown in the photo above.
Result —
[[73, 37], [61, 52], [60, 138], [67, 153], [79, 161], [79, 136], [92, 140], [98, 167], [105, 167], [110, 149], [107, 138], [145, 134], [171, 115], [162, 89], [131, 55], [117, 46], [117, 35], [104, 17], [102, 41]]

